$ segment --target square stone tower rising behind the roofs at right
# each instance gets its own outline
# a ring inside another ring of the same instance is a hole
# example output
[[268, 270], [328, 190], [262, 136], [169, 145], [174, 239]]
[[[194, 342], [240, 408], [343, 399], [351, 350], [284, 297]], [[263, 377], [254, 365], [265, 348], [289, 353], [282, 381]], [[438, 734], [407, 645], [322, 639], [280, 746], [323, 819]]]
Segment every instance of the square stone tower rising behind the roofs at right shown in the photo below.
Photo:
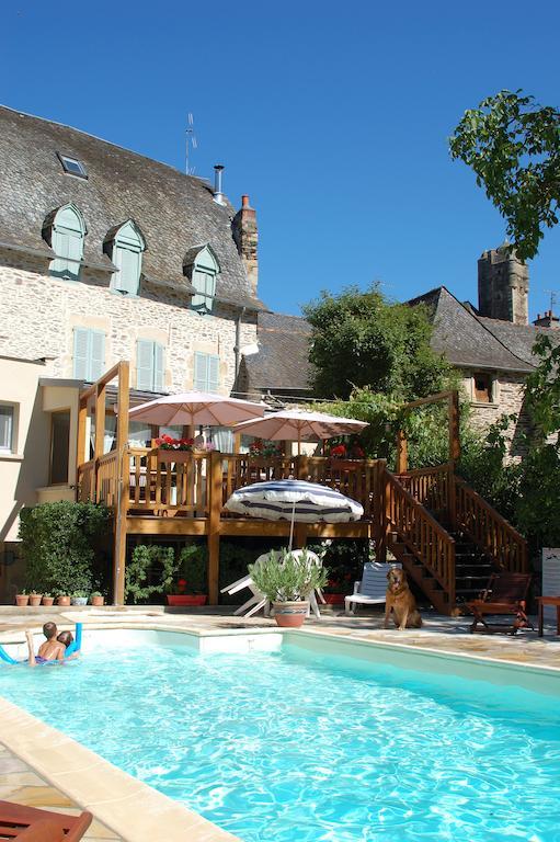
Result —
[[529, 270], [507, 243], [484, 251], [478, 262], [478, 309], [490, 319], [529, 323]]

